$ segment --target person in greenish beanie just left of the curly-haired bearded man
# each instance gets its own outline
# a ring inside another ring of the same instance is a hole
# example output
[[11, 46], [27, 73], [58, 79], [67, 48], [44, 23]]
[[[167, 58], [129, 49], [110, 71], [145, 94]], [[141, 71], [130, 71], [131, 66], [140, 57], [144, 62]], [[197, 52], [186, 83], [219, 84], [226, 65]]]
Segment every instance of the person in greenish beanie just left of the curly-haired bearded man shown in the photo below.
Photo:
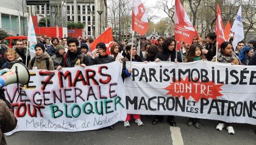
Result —
[[54, 62], [54, 69], [57, 69], [58, 66], [62, 64], [62, 59], [64, 59], [65, 47], [63, 45], [57, 46], [57, 52], [55, 55], [51, 56], [52, 61]]

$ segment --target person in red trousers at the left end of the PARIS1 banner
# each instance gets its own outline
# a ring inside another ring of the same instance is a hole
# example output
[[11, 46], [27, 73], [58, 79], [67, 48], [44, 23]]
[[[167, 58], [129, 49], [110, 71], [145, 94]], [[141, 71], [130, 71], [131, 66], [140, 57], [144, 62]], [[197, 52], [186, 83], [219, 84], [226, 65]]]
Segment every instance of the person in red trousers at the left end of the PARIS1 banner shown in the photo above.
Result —
[[[130, 55], [132, 53], [132, 61], [134, 62], [143, 62], [143, 59], [137, 55], [137, 50], [136, 50], [136, 45], [133, 43], [128, 43], [126, 45], [126, 50], [127, 50], [127, 55], [125, 61], [123, 62], [123, 72], [122, 72], [122, 76], [124, 78], [132, 75], [132, 70], [131, 69], [126, 69], [126, 62], [130, 61]], [[133, 114], [133, 119], [135, 120], [135, 123], [138, 124], [138, 126], [143, 126], [143, 122], [140, 119], [140, 115], [139, 114]], [[130, 126], [130, 114], [127, 114], [126, 117], [126, 121], [124, 121], [124, 126], [125, 127], [129, 127]]]

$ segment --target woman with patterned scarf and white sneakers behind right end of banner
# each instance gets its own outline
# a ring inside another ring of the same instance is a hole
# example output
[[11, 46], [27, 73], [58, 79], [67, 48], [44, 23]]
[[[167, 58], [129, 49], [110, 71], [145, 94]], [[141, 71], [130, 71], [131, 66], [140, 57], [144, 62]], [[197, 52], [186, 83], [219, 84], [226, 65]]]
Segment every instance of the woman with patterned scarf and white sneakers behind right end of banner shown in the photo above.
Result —
[[[216, 59], [218, 62], [226, 62], [237, 65], [241, 64], [240, 59], [238, 58], [238, 56], [235, 55], [235, 52], [233, 52], [232, 44], [229, 42], [222, 42], [221, 49], [219, 49], [217, 56], [214, 56], [212, 61], [216, 62]], [[231, 123], [219, 121], [216, 129], [221, 131], [225, 126], [227, 126], [227, 132], [233, 135], [235, 134], [235, 130], [233, 130], [233, 127], [231, 125]]]

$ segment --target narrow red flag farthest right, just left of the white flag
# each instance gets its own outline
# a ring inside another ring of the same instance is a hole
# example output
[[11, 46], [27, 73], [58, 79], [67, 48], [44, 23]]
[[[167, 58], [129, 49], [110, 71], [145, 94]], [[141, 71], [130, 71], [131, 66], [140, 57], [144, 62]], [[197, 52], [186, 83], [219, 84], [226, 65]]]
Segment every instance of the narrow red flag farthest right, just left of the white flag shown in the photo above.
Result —
[[217, 4], [216, 36], [217, 36], [216, 41], [218, 42], [218, 46], [220, 46], [221, 43], [225, 41], [225, 36], [224, 36], [221, 10], [219, 9], [219, 4]]

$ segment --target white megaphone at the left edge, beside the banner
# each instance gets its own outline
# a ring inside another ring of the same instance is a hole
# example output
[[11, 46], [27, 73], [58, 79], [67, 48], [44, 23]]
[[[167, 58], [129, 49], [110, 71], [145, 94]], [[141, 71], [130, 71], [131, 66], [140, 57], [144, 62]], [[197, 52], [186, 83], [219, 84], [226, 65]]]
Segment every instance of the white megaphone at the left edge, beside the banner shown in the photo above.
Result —
[[13, 64], [11, 69], [0, 70], [0, 89], [9, 84], [27, 84], [29, 83], [29, 70], [21, 62]]

